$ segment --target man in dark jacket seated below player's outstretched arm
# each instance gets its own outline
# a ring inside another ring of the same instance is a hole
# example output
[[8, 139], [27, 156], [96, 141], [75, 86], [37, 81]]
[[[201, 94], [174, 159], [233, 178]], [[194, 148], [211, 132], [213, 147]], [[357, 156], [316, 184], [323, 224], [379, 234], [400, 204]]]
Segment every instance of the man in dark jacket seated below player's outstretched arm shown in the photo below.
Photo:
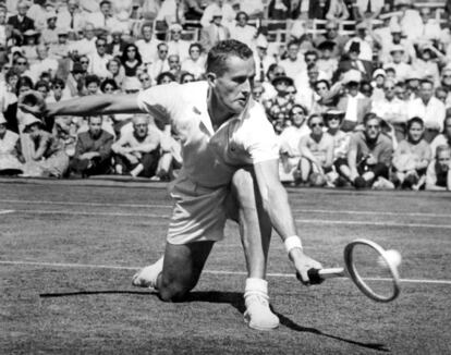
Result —
[[88, 118], [88, 131], [78, 133], [70, 171], [83, 178], [111, 172], [111, 145], [114, 137], [101, 128], [101, 117]]

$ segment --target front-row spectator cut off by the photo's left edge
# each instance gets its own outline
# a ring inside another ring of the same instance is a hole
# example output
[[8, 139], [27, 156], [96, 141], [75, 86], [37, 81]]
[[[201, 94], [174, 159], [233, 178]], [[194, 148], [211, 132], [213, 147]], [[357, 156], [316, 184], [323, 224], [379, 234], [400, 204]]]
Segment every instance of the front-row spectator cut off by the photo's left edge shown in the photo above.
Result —
[[19, 134], [7, 130], [7, 120], [0, 112], [0, 175], [22, 173], [21, 140]]

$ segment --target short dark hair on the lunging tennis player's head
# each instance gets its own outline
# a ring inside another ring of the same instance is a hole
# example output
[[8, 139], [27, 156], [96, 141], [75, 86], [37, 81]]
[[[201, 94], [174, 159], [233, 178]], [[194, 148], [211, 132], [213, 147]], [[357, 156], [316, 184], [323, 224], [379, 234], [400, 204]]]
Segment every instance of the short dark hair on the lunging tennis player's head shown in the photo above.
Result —
[[222, 75], [227, 70], [226, 62], [231, 57], [249, 59], [253, 58], [253, 51], [247, 45], [236, 39], [221, 40], [208, 52], [207, 73], [215, 73], [218, 76]]

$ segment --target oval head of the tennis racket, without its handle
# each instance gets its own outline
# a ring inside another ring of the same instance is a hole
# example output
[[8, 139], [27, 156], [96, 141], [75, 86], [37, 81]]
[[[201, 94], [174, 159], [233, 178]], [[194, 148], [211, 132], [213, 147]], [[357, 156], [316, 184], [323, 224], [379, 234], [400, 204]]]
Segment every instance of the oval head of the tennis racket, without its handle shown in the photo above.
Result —
[[344, 264], [350, 279], [367, 297], [391, 302], [400, 294], [398, 267], [385, 249], [368, 240], [355, 240], [344, 248]]

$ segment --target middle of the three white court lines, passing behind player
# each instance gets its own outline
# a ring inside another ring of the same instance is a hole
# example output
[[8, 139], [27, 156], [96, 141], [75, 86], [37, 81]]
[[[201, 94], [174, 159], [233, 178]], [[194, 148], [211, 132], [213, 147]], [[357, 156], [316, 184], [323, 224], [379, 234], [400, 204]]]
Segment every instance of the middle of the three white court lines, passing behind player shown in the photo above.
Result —
[[[68, 216], [88, 216], [88, 217], [143, 217], [143, 218], [161, 218], [168, 219], [169, 215], [158, 213], [127, 213], [127, 212], [94, 212], [94, 211], [63, 211], [63, 210], [37, 210], [37, 209], [16, 209], [16, 213], [27, 215], [68, 215]], [[326, 219], [295, 219], [298, 223], [304, 224], [341, 224], [341, 225], [381, 225], [399, 228], [429, 228], [429, 229], [451, 229], [451, 224], [428, 224], [428, 223], [395, 223], [395, 222], [377, 222], [377, 221], [343, 221]]]

